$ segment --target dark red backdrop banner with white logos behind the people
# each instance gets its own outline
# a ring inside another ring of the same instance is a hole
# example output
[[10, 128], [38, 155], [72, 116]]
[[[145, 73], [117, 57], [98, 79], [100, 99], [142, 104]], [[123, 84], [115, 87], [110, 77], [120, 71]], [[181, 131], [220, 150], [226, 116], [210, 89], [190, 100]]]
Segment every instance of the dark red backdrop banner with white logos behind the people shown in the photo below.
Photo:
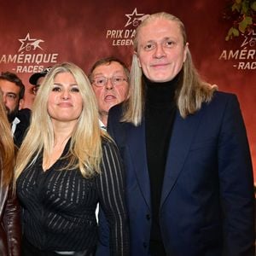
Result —
[[141, 17], [160, 11], [177, 15], [202, 77], [238, 96], [256, 172], [255, 1], [14, 0], [0, 6], [0, 71], [17, 73], [26, 84], [24, 108], [32, 106], [32, 73], [62, 61], [88, 73], [109, 55], [130, 66]]

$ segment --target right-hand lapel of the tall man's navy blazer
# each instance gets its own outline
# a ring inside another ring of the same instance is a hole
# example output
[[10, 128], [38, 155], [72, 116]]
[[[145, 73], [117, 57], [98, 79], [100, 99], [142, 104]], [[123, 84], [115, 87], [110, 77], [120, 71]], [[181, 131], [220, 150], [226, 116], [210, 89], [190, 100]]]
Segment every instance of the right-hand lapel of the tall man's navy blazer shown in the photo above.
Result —
[[172, 138], [166, 159], [166, 172], [163, 181], [160, 206], [166, 200], [167, 195], [172, 190], [177, 181], [179, 173], [183, 169], [184, 161], [189, 154], [192, 139], [197, 131], [201, 112], [189, 115], [183, 119], [177, 112], [172, 129]]

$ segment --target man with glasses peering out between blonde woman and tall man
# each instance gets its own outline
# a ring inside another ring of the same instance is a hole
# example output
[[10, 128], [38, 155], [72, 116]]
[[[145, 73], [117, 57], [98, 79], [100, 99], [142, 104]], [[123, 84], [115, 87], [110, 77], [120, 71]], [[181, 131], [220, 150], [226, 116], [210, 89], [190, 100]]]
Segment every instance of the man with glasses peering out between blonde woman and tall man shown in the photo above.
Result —
[[96, 94], [101, 126], [107, 127], [108, 111], [129, 96], [129, 69], [123, 61], [107, 57], [90, 68], [89, 79]]

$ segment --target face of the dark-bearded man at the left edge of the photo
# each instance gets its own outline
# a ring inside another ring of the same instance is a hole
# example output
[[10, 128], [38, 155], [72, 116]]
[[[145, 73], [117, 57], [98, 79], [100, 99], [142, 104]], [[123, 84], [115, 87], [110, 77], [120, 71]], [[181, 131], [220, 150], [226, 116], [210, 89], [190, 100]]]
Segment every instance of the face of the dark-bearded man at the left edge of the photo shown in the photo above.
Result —
[[20, 108], [20, 87], [15, 83], [0, 79], [0, 90], [3, 92], [3, 103], [6, 108], [9, 122], [12, 122]]

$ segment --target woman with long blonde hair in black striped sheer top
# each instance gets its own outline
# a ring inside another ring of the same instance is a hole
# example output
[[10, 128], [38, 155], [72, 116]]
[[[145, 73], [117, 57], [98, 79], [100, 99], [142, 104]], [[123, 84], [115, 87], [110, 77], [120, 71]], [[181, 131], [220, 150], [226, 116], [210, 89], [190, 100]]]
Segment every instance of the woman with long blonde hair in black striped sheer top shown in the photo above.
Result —
[[111, 255], [129, 255], [123, 167], [98, 125], [89, 79], [73, 63], [56, 65], [32, 110], [15, 172], [23, 255], [94, 255], [98, 202], [111, 225]]

